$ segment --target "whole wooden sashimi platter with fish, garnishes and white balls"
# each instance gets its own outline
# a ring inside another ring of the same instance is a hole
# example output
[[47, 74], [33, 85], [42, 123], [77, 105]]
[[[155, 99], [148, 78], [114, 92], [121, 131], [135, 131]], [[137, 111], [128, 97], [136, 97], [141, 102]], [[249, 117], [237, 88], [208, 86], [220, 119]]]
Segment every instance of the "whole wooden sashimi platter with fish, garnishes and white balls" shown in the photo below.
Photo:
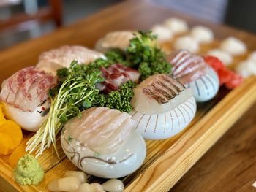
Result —
[[166, 191], [255, 101], [255, 75], [240, 39], [178, 18], [45, 50], [1, 84], [0, 175], [16, 191]]

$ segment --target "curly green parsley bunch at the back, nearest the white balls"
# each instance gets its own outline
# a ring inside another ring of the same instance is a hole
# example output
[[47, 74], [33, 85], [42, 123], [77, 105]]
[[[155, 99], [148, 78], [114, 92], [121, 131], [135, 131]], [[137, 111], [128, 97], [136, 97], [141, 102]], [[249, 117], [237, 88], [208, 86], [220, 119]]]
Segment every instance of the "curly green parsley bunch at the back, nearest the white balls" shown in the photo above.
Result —
[[165, 53], [157, 47], [157, 36], [151, 31], [138, 31], [129, 42], [129, 47], [122, 50], [110, 50], [106, 53], [110, 61], [138, 69], [140, 80], [145, 80], [153, 74], [169, 74], [171, 65], [165, 58]]

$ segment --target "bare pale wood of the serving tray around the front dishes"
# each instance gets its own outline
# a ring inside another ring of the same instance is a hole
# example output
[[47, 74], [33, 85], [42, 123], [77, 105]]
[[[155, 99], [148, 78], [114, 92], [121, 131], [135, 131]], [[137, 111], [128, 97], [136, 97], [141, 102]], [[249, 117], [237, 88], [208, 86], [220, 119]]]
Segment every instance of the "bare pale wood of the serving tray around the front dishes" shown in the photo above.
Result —
[[[213, 101], [198, 106], [195, 119], [176, 137], [146, 141], [146, 161], [138, 171], [123, 178], [125, 191], [168, 191], [252, 105], [256, 100], [255, 92], [256, 77], [249, 78], [230, 93], [222, 89]], [[62, 151], [61, 160], [48, 150], [39, 161], [46, 174], [38, 186], [15, 183], [12, 168], [1, 159], [0, 175], [17, 191], [47, 191], [45, 188], [50, 180], [63, 176], [67, 170], [77, 169]], [[89, 181], [104, 180], [89, 177]], [[10, 189], [6, 183], [4, 185]]]

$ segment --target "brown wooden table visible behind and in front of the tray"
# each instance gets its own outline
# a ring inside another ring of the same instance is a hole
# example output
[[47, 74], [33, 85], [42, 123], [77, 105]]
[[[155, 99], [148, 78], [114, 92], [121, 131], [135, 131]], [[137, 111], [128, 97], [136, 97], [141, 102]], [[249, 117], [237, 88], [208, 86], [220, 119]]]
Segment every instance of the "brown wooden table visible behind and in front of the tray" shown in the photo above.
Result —
[[[61, 45], [93, 47], [94, 42], [108, 31], [148, 29], [170, 16], [184, 18], [189, 25], [200, 23], [209, 26], [220, 39], [232, 34], [243, 39], [249, 49], [256, 50], [256, 37], [244, 31], [170, 12], [148, 1], [124, 1], [72, 26], [2, 51], [0, 81], [18, 69], [36, 64], [39, 54], [45, 50]], [[255, 191], [252, 187], [256, 180], [255, 107], [252, 107], [171, 191]]]

